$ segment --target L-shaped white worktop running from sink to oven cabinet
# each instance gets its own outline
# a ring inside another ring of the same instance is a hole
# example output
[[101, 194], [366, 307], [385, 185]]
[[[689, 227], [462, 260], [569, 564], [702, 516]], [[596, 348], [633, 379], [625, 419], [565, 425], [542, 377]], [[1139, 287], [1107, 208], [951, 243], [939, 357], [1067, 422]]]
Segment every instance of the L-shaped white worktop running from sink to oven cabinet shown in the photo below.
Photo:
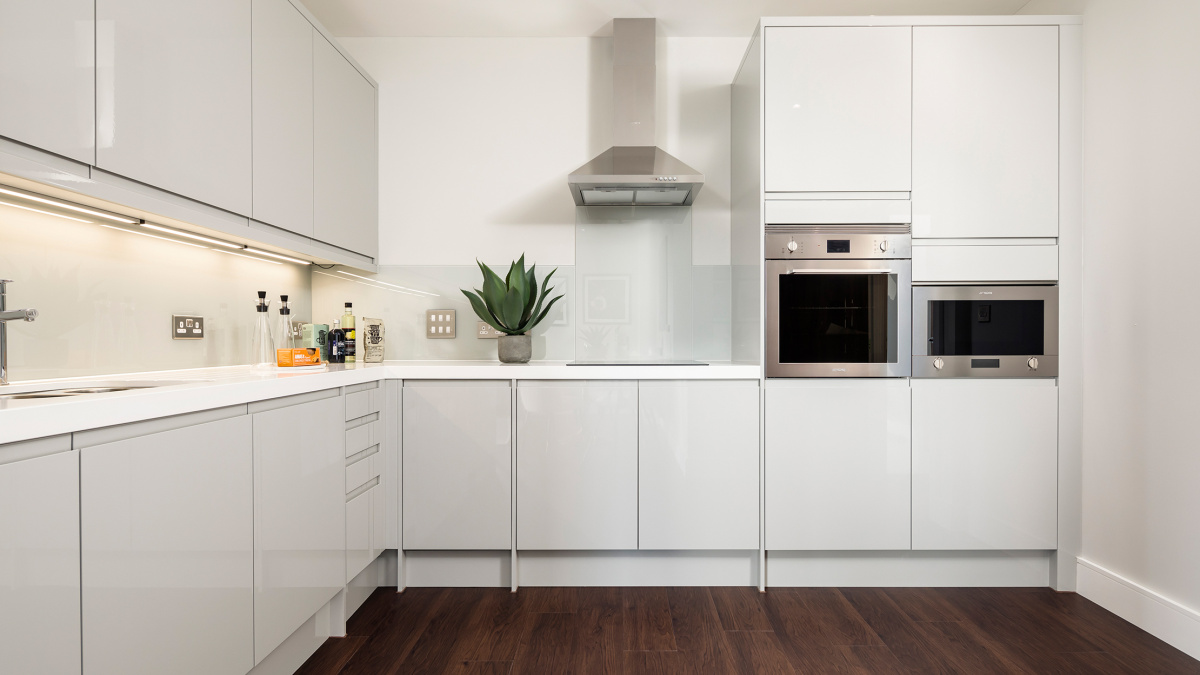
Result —
[[248, 366], [104, 375], [71, 380], [19, 382], [0, 394], [46, 389], [137, 386], [145, 389], [86, 394], [60, 399], [0, 399], [0, 444], [186, 414], [251, 401], [305, 394], [382, 380], [758, 380], [755, 364], [587, 365], [566, 362], [502, 364], [497, 362], [386, 362], [330, 365], [325, 371], [256, 370]]

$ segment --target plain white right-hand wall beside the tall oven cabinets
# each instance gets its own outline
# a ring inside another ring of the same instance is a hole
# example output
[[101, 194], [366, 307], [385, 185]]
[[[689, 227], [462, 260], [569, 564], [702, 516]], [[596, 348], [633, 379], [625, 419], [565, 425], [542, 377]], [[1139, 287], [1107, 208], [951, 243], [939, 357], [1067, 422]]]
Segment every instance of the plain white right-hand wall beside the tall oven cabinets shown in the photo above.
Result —
[[[1082, 557], [1111, 573], [1081, 574], [1080, 591], [1200, 656], [1200, 311], [1188, 245], [1200, 185], [1200, 2], [1034, 0], [1025, 12], [1080, 8]], [[1159, 602], [1123, 596], [1128, 585], [1114, 575]]]

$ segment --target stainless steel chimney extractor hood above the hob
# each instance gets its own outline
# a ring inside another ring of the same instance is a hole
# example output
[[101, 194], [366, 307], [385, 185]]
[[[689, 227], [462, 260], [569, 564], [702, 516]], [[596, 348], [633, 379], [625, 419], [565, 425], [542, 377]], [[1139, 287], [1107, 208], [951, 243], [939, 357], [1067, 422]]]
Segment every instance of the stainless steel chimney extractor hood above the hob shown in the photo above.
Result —
[[704, 175], [654, 144], [655, 19], [612, 22], [613, 143], [566, 181], [581, 207], [686, 207]]

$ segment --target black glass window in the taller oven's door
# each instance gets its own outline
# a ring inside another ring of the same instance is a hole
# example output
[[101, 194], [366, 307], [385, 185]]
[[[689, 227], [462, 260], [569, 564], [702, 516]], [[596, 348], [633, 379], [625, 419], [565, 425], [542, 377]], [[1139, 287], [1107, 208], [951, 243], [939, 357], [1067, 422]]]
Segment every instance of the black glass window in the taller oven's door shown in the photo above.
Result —
[[895, 363], [896, 287], [895, 274], [780, 275], [779, 363]]

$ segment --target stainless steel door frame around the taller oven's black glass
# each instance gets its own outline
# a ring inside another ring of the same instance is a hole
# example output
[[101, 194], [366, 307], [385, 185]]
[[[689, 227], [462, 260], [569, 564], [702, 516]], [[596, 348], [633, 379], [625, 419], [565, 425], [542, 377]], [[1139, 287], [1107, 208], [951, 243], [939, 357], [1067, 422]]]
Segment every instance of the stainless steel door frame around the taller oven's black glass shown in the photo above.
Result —
[[[785, 274], [895, 274], [898, 363], [779, 363], [779, 277]], [[767, 377], [908, 377], [912, 363], [912, 261], [767, 261]]]

